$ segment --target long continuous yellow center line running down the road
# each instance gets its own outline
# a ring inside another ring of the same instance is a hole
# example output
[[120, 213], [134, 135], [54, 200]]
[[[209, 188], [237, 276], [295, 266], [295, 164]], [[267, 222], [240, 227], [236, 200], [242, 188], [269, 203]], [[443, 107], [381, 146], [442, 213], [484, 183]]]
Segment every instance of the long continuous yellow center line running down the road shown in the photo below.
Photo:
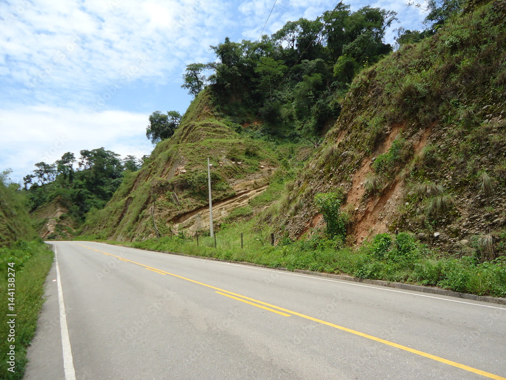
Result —
[[[73, 243], [73, 244], [77, 244], [77, 243]], [[104, 254], [109, 255], [109, 256], [114, 256], [114, 257], [117, 257], [117, 258], [122, 258], [122, 257], [116, 256], [116, 255], [113, 255], [111, 253], [107, 253], [107, 252], [103, 252], [103, 251], [99, 251], [99, 250], [87, 247], [85, 245], [81, 245], [81, 244], [77, 244], [77, 245], [80, 245], [81, 247], [85, 247], [85, 248], [88, 248], [88, 249], [92, 249], [92, 250], [97, 251], [97, 252], [104, 253]], [[202, 285], [202, 286], [205, 286], [205, 287], [208, 287], [208, 288], [211, 288], [211, 289], [218, 290], [218, 292], [228, 293], [228, 294], [234, 295], [236, 297], [240, 297], [240, 298], [243, 298], [243, 299], [247, 299], [249, 301], [257, 302], [257, 303], [260, 303], [261, 305], [267, 306], [267, 307], [272, 308], [272, 309], [277, 309], [277, 310], [285, 312], [285, 313], [289, 313], [289, 314], [296, 315], [296, 316], [301, 317], [301, 318], [309, 319], [310, 321], [313, 321], [313, 322], [321, 323], [323, 325], [327, 325], [327, 326], [330, 326], [330, 327], [333, 327], [333, 328], [336, 328], [336, 329], [339, 329], [339, 330], [342, 330], [342, 331], [346, 331], [346, 332], [349, 332], [349, 333], [352, 333], [352, 334], [355, 334], [355, 335], [358, 335], [358, 336], [362, 336], [364, 338], [377, 341], [378, 343], [383, 343], [383, 344], [385, 344], [387, 346], [395, 347], [395, 348], [398, 348], [400, 350], [404, 350], [404, 351], [410, 352], [412, 354], [423, 356], [425, 358], [429, 358], [429, 359], [432, 359], [432, 360], [435, 360], [435, 361], [438, 361], [438, 362], [441, 362], [441, 363], [444, 363], [444, 364], [448, 364], [448, 365], [451, 365], [453, 367], [457, 367], [457, 368], [460, 368], [460, 369], [463, 369], [463, 370], [466, 370], [466, 371], [469, 371], [469, 372], [473, 372], [473, 373], [476, 373], [476, 374], [479, 374], [479, 375], [482, 375], [482, 376], [485, 376], [485, 377], [488, 377], [488, 378], [492, 378], [494, 380], [506, 380], [506, 377], [495, 375], [493, 373], [485, 372], [485, 371], [482, 371], [481, 369], [473, 368], [473, 367], [467, 366], [465, 364], [460, 364], [460, 363], [457, 363], [457, 362], [454, 362], [454, 361], [451, 361], [451, 360], [448, 360], [448, 359], [441, 358], [441, 357], [436, 356], [436, 355], [428, 354], [428, 353], [423, 352], [423, 351], [419, 351], [419, 350], [415, 350], [415, 349], [412, 349], [412, 348], [409, 348], [409, 347], [406, 347], [406, 346], [402, 346], [402, 345], [399, 345], [397, 343], [393, 343], [393, 342], [391, 342], [389, 340], [378, 338], [378, 337], [373, 336], [373, 335], [369, 335], [369, 334], [366, 334], [366, 333], [363, 333], [363, 332], [360, 332], [360, 331], [352, 330], [352, 329], [349, 329], [347, 327], [339, 326], [339, 325], [336, 325], [334, 323], [323, 321], [323, 320], [318, 319], [318, 318], [313, 318], [313, 317], [310, 317], [308, 315], [297, 313], [297, 312], [294, 312], [294, 311], [291, 311], [291, 310], [288, 310], [288, 309], [280, 308], [279, 306], [271, 305], [270, 303], [259, 301], [258, 299], [255, 299], [255, 298], [246, 297], [244, 295], [240, 295], [240, 294], [237, 294], [237, 293], [225, 290], [225, 289], [220, 289], [220, 288], [218, 288], [216, 286], [213, 286], [213, 285], [204, 284], [203, 282], [195, 281], [195, 280], [183, 277], [183, 276], [178, 276], [178, 275], [175, 275], [173, 273], [165, 272], [165, 271], [162, 271], [160, 269], [149, 267], [148, 265], [141, 264], [141, 263], [136, 262], [136, 261], [132, 261], [132, 260], [128, 260], [128, 259], [124, 259], [124, 260], [132, 262], [132, 263], [137, 264], [137, 265], [141, 265], [141, 267], [145, 267], [145, 268], [148, 268], [148, 269], [151, 269], [151, 270], [154, 270], [154, 271], [158, 271], [158, 272], [163, 273], [163, 274], [167, 274], [167, 275], [171, 275], [171, 276], [180, 278], [182, 280], [190, 281], [190, 282], [193, 282], [193, 283], [198, 284], [198, 285]], [[227, 295], [227, 294], [223, 294], [223, 295]], [[235, 298], [235, 297], [231, 297], [231, 298]], [[239, 300], [241, 300], [241, 299], [239, 299]], [[252, 305], [254, 305], [254, 304], [252, 304]], [[258, 306], [258, 305], [254, 305], [254, 306]], [[274, 310], [272, 310], [272, 311], [274, 312]]]

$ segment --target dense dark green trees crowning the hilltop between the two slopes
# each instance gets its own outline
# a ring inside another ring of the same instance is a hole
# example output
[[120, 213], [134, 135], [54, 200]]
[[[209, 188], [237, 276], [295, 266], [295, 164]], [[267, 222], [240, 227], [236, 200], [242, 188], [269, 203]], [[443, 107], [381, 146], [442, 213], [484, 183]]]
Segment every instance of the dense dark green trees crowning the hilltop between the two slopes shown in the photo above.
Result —
[[340, 3], [258, 42], [226, 38], [211, 47], [218, 63], [187, 66], [183, 87], [197, 94], [208, 85], [222, 117], [258, 135], [319, 136], [339, 116], [339, 98], [354, 74], [392, 51], [383, 37], [395, 15], [371, 7], [351, 12]]

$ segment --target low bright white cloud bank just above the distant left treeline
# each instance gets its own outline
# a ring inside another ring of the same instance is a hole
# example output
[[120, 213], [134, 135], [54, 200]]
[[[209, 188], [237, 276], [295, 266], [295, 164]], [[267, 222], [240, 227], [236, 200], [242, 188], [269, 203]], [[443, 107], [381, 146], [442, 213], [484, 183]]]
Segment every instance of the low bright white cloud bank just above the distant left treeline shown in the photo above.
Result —
[[[33, 106], [0, 113], [0, 170], [13, 168], [19, 181], [33, 165], [53, 163], [67, 151], [101, 146], [124, 157], [149, 154], [147, 117], [127, 111], [89, 112], [68, 108]], [[21, 133], [22, 132], [22, 133]]]

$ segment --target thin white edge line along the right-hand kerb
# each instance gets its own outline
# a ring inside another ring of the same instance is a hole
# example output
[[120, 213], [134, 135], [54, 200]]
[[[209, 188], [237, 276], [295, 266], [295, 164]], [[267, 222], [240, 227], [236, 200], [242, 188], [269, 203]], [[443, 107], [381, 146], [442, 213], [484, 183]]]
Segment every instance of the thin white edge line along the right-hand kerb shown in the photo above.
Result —
[[[97, 243], [97, 242], [88, 242], [88, 243]], [[104, 244], [104, 243], [98, 243], [98, 244]], [[110, 244], [107, 244], [107, 245], [110, 245]], [[140, 248], [134, 248], [134, 247], [121, 247], [121, 248], [140, 249]], [[150, 251], [150, 250], [145, 250], [145, 249], [140, 249], [140, 250], [141, 251], [145, 251], [145, 252], [147, 251], [147, 252], [153, 252], [153, 253], [166, 254], [166, 253], [163, 253], [163, 252]], [[254, 265], [237, 264], [235, 262], [228, 262], [228, 261], [209, 260], [209, 259], [206, 259], [206, 258], [190, 257], [190, 256], [180, 255], [180, 254], [175, 254], [175, 255], [173, 254], [173, 256], [180, 256], [180, 257], [185, 257], [185, 258], [189, 258], [189, 259], [193, 259], [193, 260], [199, 260], [199, 261], [205, 261], [205, 262], [214, 262], [214, 263], [217, 263], [217, 264], [228, 264], [228, 265], [234, 265], [235, 267], [241, 267], [241, 268], [256, 269], [258, 271], [267, 271], [267, 272], [271, 272], [271, 273], [280, 273], [280, 274], [290, 275], [290, 276], [306, 277], [306, 278], [310, 278], [310, 279], [314, 279], [314, 280], [321, 280], [321, 281], [331, 281], [331, 282], [337, 282], [337, 283], [344, 284], [344, 285], [361, 286], [361, 287], [369, 288], [369, 289], [384, 290], [384, 291], [389, 291], [389, 292], [394, 292], [394, 293], [403, 293], [403, 294], [414, 295], [414, 296], [417, 296], [417, 297], [434, 298], [434, 299], [440, 299], [440, 300], [443, 300], [443, 301], [456, 302], [456, 303], [464, 303], [465, 305], [474, 305], [474, 306], [480, 306], [482, 308], [499, 309], [499, 310], [506, 311], [506, 308], [500, 308], [500, 307], [497, 307], [497, 306], [482, 305], [481, 303], [474, 303], [474, 302], [469, 302], [469, 301], [460, 301], [460, 300], [457, 300], [457, 299], [444, 298], [444, 296], [437, 297], [437, 296], [434, 296], [434, 295], [419, 294], [416, 291], [408, 292], [408, 291], [403, 291], [403, 290], [390, 289], [388, 287], [381, 286], [381, 285], [357, 284], [357, 283], [355, 283], [353, 281], [345, 281], [345, 280], [339, 280], [339, 279], [322, 278], [322, 277], [319, 277], [319, 276], [300, 275], [300, 274], [297, 274], [297, 273], [293, 273], [291, 271], [279, 271], [279, 270], [275, 270], [275, 269], [267, 269], [267, 268], [255, 267]]]

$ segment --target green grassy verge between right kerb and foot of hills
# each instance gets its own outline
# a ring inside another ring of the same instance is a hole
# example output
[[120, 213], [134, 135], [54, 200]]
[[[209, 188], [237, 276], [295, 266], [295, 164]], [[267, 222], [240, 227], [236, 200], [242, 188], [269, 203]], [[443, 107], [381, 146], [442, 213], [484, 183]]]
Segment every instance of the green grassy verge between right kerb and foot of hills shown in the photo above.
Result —
[[[372, 242], [357, 248], [343, 247], [339, 239], [322, 234], [310, 239], [278, 240], [271, 246], [269, 233], [256, 231], [256, 221], [249, 220], [223, 228], [214, 239], [179, 236], [142, 242], [111, 242], [135, 248], [178, 252], [188, 255], [246, 261], [267, 267], [283, 267], [316, 272], [346, 274], [359, 278], [438, 286], [443, 289], [477, 295], [506, 297], [506, 257], [481, 262], [479, 255], [452, 257], [431, 250], [412, 235], [377, 235]], [[240, 233], [244, 248], [241, 249]]]

